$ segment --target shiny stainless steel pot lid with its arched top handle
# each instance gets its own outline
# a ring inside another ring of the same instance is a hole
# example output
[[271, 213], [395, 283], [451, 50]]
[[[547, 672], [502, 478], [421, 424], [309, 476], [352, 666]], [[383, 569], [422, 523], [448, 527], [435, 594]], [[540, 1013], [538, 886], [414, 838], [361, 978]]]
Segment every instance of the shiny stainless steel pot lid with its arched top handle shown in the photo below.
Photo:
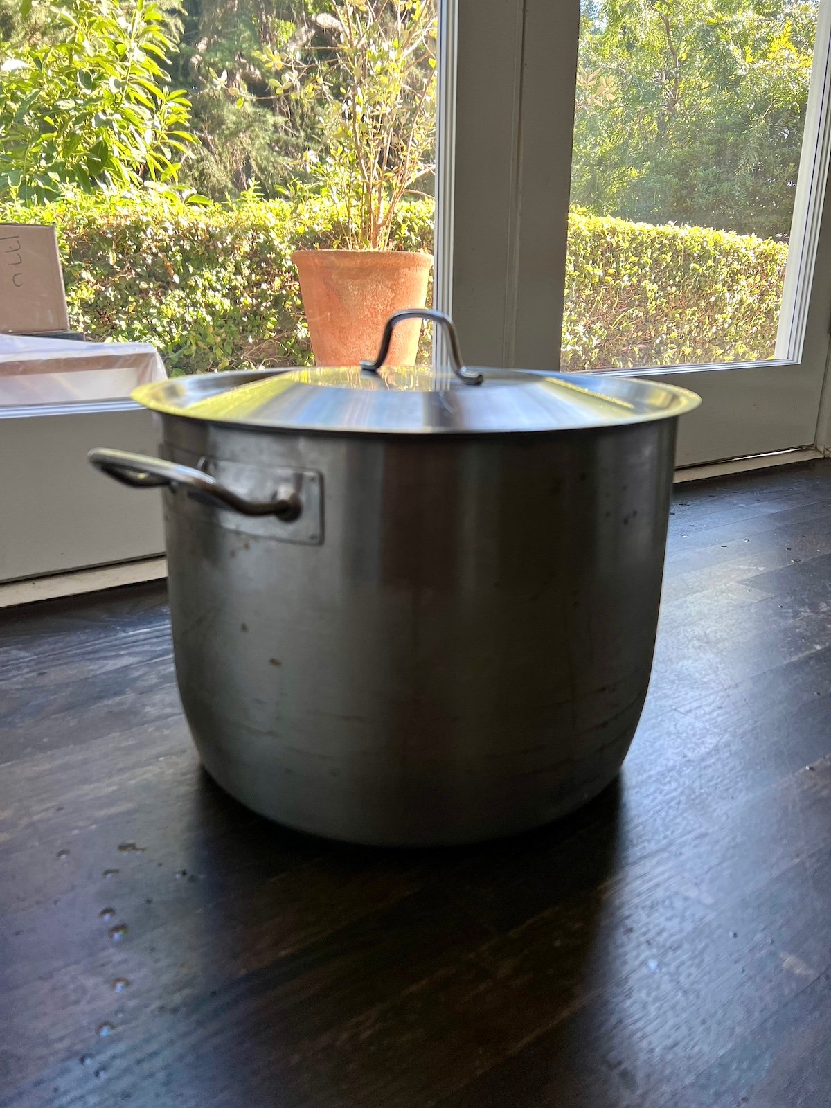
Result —
[[[383, 366], [392, 327], [423, 316], [448, 330], [453, 366]], [[304, 432], [510, 433], [640, 423], [691, 411], [695, 392], [628, 377], [465, 369], [447, 316], [397, 312], [375, 362], [353, 367], [206, 373], [145, 384], [153, 411], [211, 423]]]

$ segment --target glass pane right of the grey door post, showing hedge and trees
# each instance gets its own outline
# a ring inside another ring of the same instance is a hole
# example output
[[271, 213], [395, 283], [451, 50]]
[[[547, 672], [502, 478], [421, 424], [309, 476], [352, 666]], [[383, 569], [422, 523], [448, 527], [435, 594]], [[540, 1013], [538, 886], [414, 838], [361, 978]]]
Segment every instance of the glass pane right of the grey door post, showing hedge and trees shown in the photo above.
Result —
[[817, 0], [583, 0], [562, 366], [773, 357]]

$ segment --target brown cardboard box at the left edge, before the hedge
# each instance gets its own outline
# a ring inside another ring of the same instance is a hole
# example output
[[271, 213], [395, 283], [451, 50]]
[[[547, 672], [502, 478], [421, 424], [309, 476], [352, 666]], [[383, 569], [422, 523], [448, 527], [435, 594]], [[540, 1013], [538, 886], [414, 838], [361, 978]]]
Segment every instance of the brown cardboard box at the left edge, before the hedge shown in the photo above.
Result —
[[0, 223], [0, 331], [69, 330], [54, 227]]

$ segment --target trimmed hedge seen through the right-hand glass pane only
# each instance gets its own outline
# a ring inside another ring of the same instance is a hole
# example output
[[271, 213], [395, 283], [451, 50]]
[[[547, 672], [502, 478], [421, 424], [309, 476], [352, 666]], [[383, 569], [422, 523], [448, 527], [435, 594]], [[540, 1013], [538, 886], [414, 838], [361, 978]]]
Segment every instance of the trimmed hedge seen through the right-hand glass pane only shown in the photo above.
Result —
[[772, 358], [787, 243], [572, 212], [563, 368]]

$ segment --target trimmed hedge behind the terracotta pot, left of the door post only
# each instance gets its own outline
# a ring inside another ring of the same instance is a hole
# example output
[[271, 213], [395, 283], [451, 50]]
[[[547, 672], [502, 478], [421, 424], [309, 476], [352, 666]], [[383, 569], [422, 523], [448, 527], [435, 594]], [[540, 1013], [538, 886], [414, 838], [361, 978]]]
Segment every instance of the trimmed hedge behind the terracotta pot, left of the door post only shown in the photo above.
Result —
[[[80, 197], [0, 204], [0, 222], [54, 224], [71, 326], [93, 339], [153, 342], [168, 372], [308, 365], [312, 358], [291, 253], [340, 246], [320, 202]], [[430, 249], [432, 205], [404, 203], [400, 249]]]

